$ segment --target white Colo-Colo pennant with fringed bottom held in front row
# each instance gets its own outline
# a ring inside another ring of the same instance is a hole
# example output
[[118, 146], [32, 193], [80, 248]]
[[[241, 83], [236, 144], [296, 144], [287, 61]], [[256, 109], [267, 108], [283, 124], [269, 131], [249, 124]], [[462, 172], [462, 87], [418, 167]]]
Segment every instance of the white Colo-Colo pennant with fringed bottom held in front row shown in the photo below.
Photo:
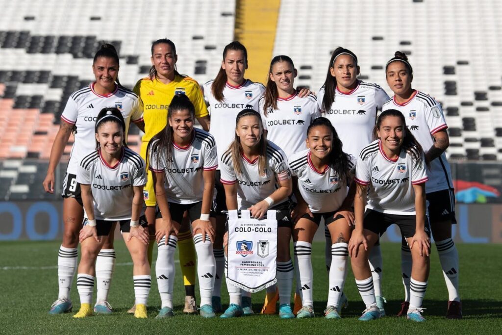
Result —
[[228, 211], [227, 261], [226, 277], [243, 290], [255, 293], [277, 282], [275, 210], [263, 220], [251, 218], [249, 210]]

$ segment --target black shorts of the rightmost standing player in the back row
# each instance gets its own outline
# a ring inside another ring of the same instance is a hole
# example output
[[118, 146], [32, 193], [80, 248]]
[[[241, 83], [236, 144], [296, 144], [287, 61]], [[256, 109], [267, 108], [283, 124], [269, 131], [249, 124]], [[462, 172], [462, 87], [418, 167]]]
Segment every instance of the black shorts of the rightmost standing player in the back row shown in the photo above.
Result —
[[455, 192], [453, 189], [445, 189], [427, 193], [429, 201], [429, 218], [431, 224], [450, 220], [452, 225], [457, 223], [455, 218]]

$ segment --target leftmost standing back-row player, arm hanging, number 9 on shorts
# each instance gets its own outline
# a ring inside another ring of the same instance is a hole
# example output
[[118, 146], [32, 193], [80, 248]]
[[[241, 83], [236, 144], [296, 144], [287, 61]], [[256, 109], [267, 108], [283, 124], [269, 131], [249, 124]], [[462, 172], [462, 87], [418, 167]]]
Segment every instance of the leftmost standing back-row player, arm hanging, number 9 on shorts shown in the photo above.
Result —
[[[110, 44], [103, 44], [94, 55], [92, 72], [96, 80], [70, 95], [61, 115], [61, 125], [54, 140], [47, 176], [43, 182], [46, 192], [54, 193], [54, 171], [72, 133], [75, 142], [63, 181], [63, 243], [59, 248], [59, 295], [52, 304], [50, 314], [70, 311], [70, 288], [77, 268], [78, 232], [82, 228], [84, 209], [80, 185], [76, 180], [78, 165], [85, 154], [94, 150], [94, 125], [103, 107], [118, 108], [126, 122], [126, 136], [130, 122], [143, 129], [142, 106], [138, 95], [120, 86], [118, 81], [118, 56]], [[75, 131], [75, 132], [74, 132]], [[115, 263], [113, 234], [104, 239], [103, 248], [96, 260], [97, 301], [95, 311], [111, 313], [107, 302], [111, 273]]]

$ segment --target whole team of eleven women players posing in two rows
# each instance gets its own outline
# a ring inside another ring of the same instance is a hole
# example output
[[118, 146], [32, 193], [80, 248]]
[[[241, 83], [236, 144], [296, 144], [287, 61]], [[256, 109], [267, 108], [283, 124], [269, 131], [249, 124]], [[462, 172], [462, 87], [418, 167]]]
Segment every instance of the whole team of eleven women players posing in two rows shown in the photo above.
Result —
[[[134, 263], [136, 301], [130, 311], [147, 317], [155, 239], [162, 300], [157, 318], [173, 315], [177, 245], [180, 264], [187, 265], [182, 267], [184, 312], [197, 312], [197, 272], [200, 314], [214, 317], [222, 311], [222, 211], [249, 209], [261, 218], [275, 209], [283, 217], [278, 220], [277, 288], [267, 289], [263, 313], [275, 313], [279, 300], [281, 318], [314, 316], [311, 244], [324, 219], [326, 318], [340, 318], [349, 255], [365, 304], [360, 319], [385, 315], [379, 236], [394, 223], [403, 235], [405, 301], [398, 315], [425, 320], [432, 233], [449, 293], [447, 317], [461, 318], [458, 255], [451, 239], [453, 184], [444, 155], [447, 125], [441, 106], [412, 88], [406, 55], [396, 52], [386, 65], [392, 99], [380, 86], [357, 79], [357, 57], [341, 47], [331, 56], [317, 96], [297, 91], [297, 71], [287, 56], [273, 58], [266, 86], [246, 80], [247, 52], [239, 42], [225, 47], [220, 71], [202, 89], [177, 72], [176, 61], [172, 41], [155, 41], [150, 75], [130, 91], [119, 84], [115, 49], [103, 45], [93, 60], [95, 82], [68, 99], [44, 180], [46, 191], [53, 192], [55, 167], [76, 129], [63, 182], [65, 231], [59, 296], [51, 314], [72, 309], [69, 292], [79, 242], [81, 306], [75, 317], [112, 312], [107, 302], [115, 260], [110, 232], [119, 222]], [[194, 128], [195, 119], [203, 130]], [[131, 121], [145, 132], [139, 155], [124, 146]], [[230, 305], [220, 317], [253, 313], [249, 293], [229, 282], [227, 289]]]

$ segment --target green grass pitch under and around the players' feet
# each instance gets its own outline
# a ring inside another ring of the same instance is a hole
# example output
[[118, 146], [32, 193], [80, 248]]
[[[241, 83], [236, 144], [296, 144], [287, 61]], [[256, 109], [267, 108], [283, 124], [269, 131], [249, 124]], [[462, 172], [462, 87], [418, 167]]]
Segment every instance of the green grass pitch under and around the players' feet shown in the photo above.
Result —
[[[277, 315], [254, 315], [235, 319], [202, 319], [183, 315], [184, 289], [179, 264], [176, 268], [175, 317], [156, 320], [160, 298], [155, 276], [149, 299], [149, 318], [135, 319], [126, 314], [134, 302], [131, 258], [122, 241], [115, 242], [116, 263], [109, 302], [112, 315], [95, 315], [74, 319], [79, 300], [76, 280], [71, 298], [73, 312], [49, 315], [51, 303], [57, 297], [57, 251], [59, 242], [2, 242], [0, 244], [0, 333], [29, 334], [87, 334], [87, 333], [500, 333], [502, 329], [502, 245], [458, 244], [460, 255], [460, 293], [463, 320], [447, 320], [448, 299], [443, 275], [435, 248], [431, 257], [431, 275], [424, 301], [425, 323], [413, 323], [394, 317], [403, 299], [400, 270], [400, 245], [383, 244], [383, 291], [387, 298], [388, 316], [380, 320], [357, 320], [363, 304], [349, 271], [345, 293], [349, 306], [342, 311], [341, 320], [325, 320], [322, 312], [327, 299], [327, 273], [324, 264], [324, 245], [313, 245], [314, 300], [316, 317], [302, 320], [280, 320]], [[156, 248], [155, 248], [156, 249]], [[154, 255], [155, 257], [155, 255]], [[155, 258], [154, 258], [155, 259]], [[76, 279], [76, 278], [75, 278]], [[198, 290], [198, 288], [197, 288]], [[228, 304], [225, 284], [222, 302]], [[198, 292], [198, 291], [197, 291]], [[264, 291], [253, 297], [253, 308], [259, 312]], [[95, 299], [95, 295], [94, 295]]]

